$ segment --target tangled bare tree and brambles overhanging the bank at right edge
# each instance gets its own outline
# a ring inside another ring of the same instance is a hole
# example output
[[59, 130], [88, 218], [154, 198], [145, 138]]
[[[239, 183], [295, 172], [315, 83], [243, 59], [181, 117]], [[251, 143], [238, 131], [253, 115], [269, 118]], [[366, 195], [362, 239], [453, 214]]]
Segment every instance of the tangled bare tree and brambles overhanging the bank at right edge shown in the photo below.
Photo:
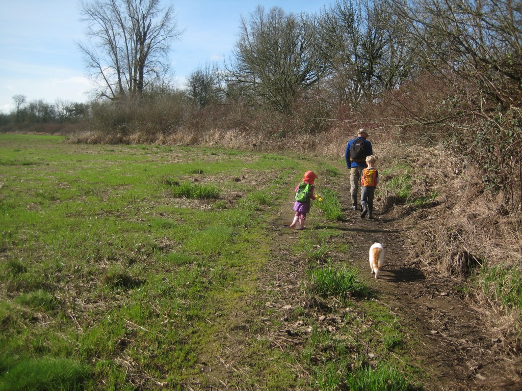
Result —
[[[390, 0], [409, 21], [433, 72], [453, 96], [445, 120], [453, 148], [522, 211], [522, 3], [519, 0]], [[454, 129], [452, 132], [451, 129]]]

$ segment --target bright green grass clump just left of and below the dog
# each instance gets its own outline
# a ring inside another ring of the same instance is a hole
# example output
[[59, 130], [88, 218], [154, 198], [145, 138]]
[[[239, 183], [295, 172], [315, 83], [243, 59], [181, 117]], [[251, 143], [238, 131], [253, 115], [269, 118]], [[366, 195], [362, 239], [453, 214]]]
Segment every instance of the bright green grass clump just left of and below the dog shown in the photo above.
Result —
[[334, 268], [332, 265], [317, 267], [312, 271], [314, 291], [322, 296], [368, 296], [370, 288], [358, 279], [358, 270], [347, 267]]

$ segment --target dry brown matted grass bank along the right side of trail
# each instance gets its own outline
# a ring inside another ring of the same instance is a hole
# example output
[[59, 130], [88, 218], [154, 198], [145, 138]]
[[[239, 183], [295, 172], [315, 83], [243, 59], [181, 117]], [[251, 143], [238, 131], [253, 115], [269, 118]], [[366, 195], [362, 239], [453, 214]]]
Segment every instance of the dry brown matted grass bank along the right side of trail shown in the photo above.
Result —
[[[389, 150], [383, 153], [393, 156]], [[480, 274], [492, 267], [522, 273], [520, 215], [507, 214], [503, 194], [485, 189], [476, 167], [448, 155], [440, 145], [414, 146], [400, 158], [413, 167], [412, 193], [438, 194], [428, 207], [390, 207], [388, 216], [400, 219], [413, 258], [425, 273], [449, 276], [456, 285], [467, 286], [472, 307], [499, 345], [507, 351], [520, 348], [520, 309], [504, 306], [496, 286], [487, 287]]]

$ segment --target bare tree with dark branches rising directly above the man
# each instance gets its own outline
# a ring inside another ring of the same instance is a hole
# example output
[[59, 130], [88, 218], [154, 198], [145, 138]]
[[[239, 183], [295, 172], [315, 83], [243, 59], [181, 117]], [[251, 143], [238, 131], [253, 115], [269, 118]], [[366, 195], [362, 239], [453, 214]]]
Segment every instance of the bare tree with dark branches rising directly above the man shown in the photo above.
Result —
[[321, 49], [339, 103], [355, 108], [411, 80], [417, 60], [386, 0], [338, 0], [321, 15]]

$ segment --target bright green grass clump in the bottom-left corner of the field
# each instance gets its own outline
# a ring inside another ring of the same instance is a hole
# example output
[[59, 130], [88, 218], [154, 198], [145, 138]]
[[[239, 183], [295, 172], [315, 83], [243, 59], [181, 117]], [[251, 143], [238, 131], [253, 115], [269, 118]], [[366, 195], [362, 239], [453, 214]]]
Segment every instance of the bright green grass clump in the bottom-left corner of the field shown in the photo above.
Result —
[[68, 359], [0, 357], [0, 391], [80, 391], [90, 374], [89, 366]]

